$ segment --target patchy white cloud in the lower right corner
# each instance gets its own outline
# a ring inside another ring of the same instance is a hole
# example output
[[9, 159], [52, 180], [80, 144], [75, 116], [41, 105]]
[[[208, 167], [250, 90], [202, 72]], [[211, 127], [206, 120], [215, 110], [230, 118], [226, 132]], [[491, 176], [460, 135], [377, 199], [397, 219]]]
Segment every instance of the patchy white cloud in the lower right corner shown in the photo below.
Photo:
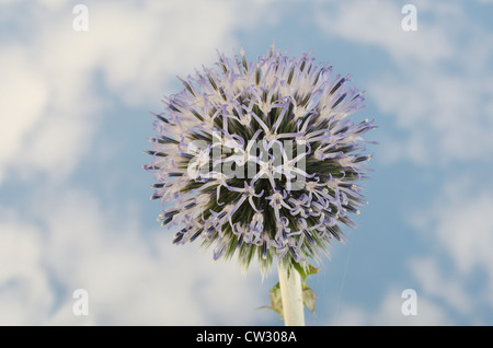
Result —
[[[483, 173], [484, 174], [484, 173]], [[485, 174], [484, 174], [485, 175]], [[488, 175], [486, 175], [488, 176]], [[493, 309], [493, 190], [490, 183], [447, 179], [410, 224], [428, 246], [408, 260], [417, 315], [401, 313], [404, 287], [391, 286], [375, 308], [341, 304], [331, 325], [490, 325]], [[328, 311], [331, 313], [331, 311]]]

